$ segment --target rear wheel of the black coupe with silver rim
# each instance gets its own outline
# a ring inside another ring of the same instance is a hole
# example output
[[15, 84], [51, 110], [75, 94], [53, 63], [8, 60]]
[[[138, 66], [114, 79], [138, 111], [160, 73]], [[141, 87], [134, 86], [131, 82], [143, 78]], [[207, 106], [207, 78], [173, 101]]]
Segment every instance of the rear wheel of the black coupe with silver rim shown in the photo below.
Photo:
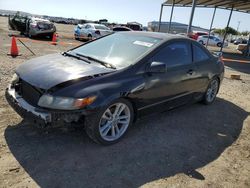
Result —
[[217, 78], [213, 78], [208, 85], [208, 88], [203, 98], [203, 103], [206, 105], [212, 104], [216, 99], [218, 91], [219, 91], [219, 80]]

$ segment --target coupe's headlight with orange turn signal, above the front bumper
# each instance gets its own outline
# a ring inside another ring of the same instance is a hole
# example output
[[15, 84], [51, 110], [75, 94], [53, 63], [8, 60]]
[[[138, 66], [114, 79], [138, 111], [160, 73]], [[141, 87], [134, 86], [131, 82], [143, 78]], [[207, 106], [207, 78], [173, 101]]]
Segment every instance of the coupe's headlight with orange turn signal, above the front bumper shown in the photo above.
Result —
[[92, 104], [96, 96], [86, 97], [82, 99], [55, 97], [52, 95], [43, 95], [38, 101], [41, 107], [58, 109], [58, 110], [76, 110]]

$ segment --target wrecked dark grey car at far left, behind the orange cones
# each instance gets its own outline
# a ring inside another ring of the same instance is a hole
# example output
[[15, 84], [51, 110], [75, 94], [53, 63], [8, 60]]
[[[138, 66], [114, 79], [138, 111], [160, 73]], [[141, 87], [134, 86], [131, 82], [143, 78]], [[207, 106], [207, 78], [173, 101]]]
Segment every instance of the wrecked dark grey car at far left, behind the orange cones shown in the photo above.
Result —
[[9, 17], [9, 26], [12, 30], [20, 31], [30, 38], [35, 36], [49, 36], [52, 38], [56, 32], [56, 27], [49, 20], [18, 14]]

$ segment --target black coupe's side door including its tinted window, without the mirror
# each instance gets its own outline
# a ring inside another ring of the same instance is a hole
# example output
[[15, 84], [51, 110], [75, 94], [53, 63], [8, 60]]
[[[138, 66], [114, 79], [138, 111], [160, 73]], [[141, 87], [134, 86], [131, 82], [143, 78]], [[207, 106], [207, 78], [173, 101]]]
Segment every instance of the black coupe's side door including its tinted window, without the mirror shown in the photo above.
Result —
[[[140, 96], [146, 109], [163, 104], [172, 108], [188, 102], [192, 96], [195, 65], [192, 63], [191, 43], [175, 41], [161, 48], [150, 59], [152, 62], [166, 64], [165, 73], [145, 73], [145, 88]], [[146, 71], [147, 72], [147, 71]]]

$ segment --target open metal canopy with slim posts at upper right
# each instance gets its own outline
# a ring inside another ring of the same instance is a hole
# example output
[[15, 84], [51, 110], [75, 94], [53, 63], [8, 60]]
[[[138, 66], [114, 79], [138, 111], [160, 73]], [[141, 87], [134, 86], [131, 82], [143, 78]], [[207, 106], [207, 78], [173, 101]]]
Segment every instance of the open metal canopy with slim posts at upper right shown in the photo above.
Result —
[[[163, 7], [164, 6], [171, 6], [171, 15], [170, 15], [170, 21], [169, 21], [169, 28], [168, 32], [170, 31], [171, 27], [171, 22], [172, 22], [172, 16], [173, 16], [173, 11], [174, 7], [191, 7], [191, 14], [190, 14], [190, 19], [189, 19], [189, 25], [187, 29], [187, 34], [189, 35], [191, 33], [191, 27], [192, 27], [192, 22], [193, 22], [193, 17], [194, 17], [194, 11], [195, 8], [214, 8], [213, 12], [213, 17], [212, 21], [210, 24], [210, 30], [209, 30], [209, 36], [211, 33], [211, 29], [213, 26], [213, 21], [215, 17], [216, 10], [219, 9], [228, 9], [230, 10], [230, 15], [228, 18], [227, 26], [226, 26], [226, 33], [223, 37], [223, 44], [221, 46], [220, 51], [223, 49], [223, 45], [226, 39], [227, 35], [227, 30], [230, 24], [230, 20], [232, 17], [233, 11], [238, 11], [238, 12], [244, 12], [244, 13], [249, 13], [250, 14], [250, 0], [167, 0], [161, 5], [161, 13], [160, 13], [160, 19], [159, 19], [159, 28], [158, 31], [160, 31], [161, 27], [161, 18], [162, 18], [162, 12], [163, 12]], [[209, 39], [208, 39], [209, 40]], [[250, 36], [249, 36], [250, 40]], [[208, 44], [208, 41], [207, 41]], [[206, 44], [206, 45], [207, 45]], [[250, 44], [248, 44], [248, 49], [250, 48]], [[248, 55], [250, 54], [250, 50], [248, 51]]]

